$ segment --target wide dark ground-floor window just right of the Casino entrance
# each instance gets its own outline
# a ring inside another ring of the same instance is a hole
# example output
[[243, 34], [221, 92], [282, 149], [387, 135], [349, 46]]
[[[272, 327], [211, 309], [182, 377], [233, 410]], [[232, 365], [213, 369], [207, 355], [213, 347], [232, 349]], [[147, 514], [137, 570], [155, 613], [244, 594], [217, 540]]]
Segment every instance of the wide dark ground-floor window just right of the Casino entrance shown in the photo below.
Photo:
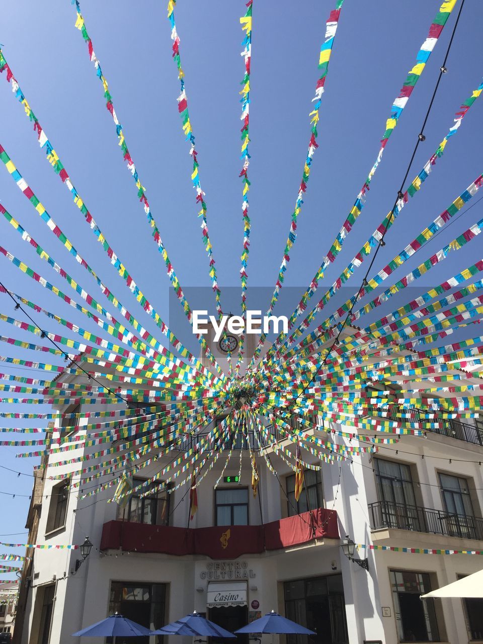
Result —
[[285, 616], [316, 635], [288, 635], [287, 644], [347, 644], [341, 574], [283, 583]]

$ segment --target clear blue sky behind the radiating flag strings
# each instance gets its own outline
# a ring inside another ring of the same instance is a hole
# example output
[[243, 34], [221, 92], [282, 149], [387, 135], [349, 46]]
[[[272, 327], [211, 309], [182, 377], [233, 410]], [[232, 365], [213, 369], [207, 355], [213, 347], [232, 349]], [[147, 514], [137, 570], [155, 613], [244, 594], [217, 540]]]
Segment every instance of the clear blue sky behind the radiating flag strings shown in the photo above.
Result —
[[[302, 4], [254, 0], [249, 289], [273, 287], [278, 273], [307, 153], [308, 113], [318, 77], [319, 49], [333, 4], [314, 0]], [[322, 100], [319, 149], [312, 164], [299, 216], [298, 241], [285, 281], [287, 287], [294, 289], [290, 292], [301, 294], [305, 289], [352, 207], [377, 156], [393, 99], [415, 62], [439, 4], [433, 0], [405, 0], [395, 11], [393, 7], [389, 10], [383, 0], [345, 1]], [[189, 146], [176, 108], [179, 82], [171, 59], [164, 3], [84, 0], [81, 6], [131, 156], [178, 278], [185, 287], [207, 287], [207, 260], [191, 186]], [[180, 0], [176, 6], [189, 109], [222, 287], [238, 285], [243, 239], [238, 92], [243, 78], [239, 17], [244, 10], [242, 2], [220, 0], [211, 3]], [[453, 14], [390, 138], [363, 214], [336, 264], [327, 271], [325, 285], [338, 276], [393, 205], [437, 80], [456, 10]], [[169, 280], [164, 263], [151, 239], [131, 176], [124, 167], [102, 88], [86, 45], [74, 28], [75, 17], [75, 8], [68, 0], [10, 3], [2, 12], [3, 52], [91, 213], [158, 312], [168, 319]], [[440, 83], [425, 129], [426, 141], [419, 146], [410, 180], [448, 132], [461, 102], [480, 82], [482, 19], [481, 3], [466, 0], [447, 63], [449, 71]], [[377, 258], [375, 270], [401, 251], [482, 172], [481, 109], [478, 102], [471, 108], [424, 188], [398, 218], [386, 238], [384, 252]], [[95, 243], [70, 194], [46, 162], [5, 74], [0, 77], [0, 143], [79, 251], [113, 292], [147, 323], [147, 317], [143, 318], [142, 311], [137, 310], [135, 300]], [[98, 296], [93, 280], [48, 234], [3, 167], [0, 199], [66, 270]], [[413, 269], [481, 216], [482, 207], [477, 204], [406, 263], [395, 278]], [[1, 245], [53, 283], [65, 286], [3, 221], [0, 240]], [[421, 280], [422, 285], [439, 283], [480, 259], [481, 249], [482, 243], [477, 238], [465, 251], [455, 253], [431, 271]], [[81, 323], [70, 307], [19, 274], [3, 257], [0, 275], [6, 287]], [[353, 278], [354, 290], [361, 279], [362, 275]], [[352, 294], [352, 290], [346, 294]], [[11, 314], [12, 306], [5, 296], [0, 302], [1, 312]], [[51, 323], [48, 328], [55, 327]], [[181, 339], [191, 342], [187, 323], [180, 320], [175, 331]], [[12, 327], [2, 326], [0, 332], [28, 339], [20, 332], [14, 334]], [[5, 346], [0, 353], [13, 355]], [[14, 450], [1, 450], [0, 464], [26, 473], [31, 471], [31, 460], [19, 461], [14, 458]], [[1, 533], [24, 532], [28, 497], [18, 495], [30, 494], [31, 483], [29, 477], [0, 471], [0, 491], [17, 494], [15, 498], [1, 495], [0, 540], [23, 540], [20, 535], [3, 538]]]

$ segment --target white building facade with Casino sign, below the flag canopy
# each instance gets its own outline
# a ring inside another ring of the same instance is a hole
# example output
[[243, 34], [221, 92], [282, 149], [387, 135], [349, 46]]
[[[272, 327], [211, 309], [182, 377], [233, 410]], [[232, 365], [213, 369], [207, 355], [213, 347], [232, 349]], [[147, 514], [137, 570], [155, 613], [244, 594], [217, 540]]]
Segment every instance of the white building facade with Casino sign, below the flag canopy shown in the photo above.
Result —
[[[73, 632], [115, 611], [155, 629], [196, 610], [236, 630], [272, 609], [316, 631], [311, 638], [288, 636], [288, 644], [483, 641], [483, 600], [419, 598], [480, 569], [478, 555], [359, 549], [355, 558], [368, 559], [365, 569], [341, 549], [349, 535], [356, 544], [483, 551], [483, 431], [448, 421], [444, 433], [405, 436], [352, 462], [312, 456], [320, 469], [305, 471], [299, 502], [293, 471], [271, 448], [266, 453], [278, 476], [257, 452], [254, 497], [250, 451], [237, 439], [231, 459], [223, 451], [200, 483], [192, 521], [189, 479], [169, 494], [153, 488], [150, 497], [132, 497], [120, 509], [108, 502], [118, 478], [79, 500], [79, 464], [58, 467], [66, 455], [53, 454], [37, 543], [82, 544], [88, 535], [93, 548], [77, 571], [79, 550], [30, 552], [15, 644], [75, 644], [81, 639]], [[68, 458], [83, 453], [74, 449]], [[135, 478], [151, 477], [166, 462], [160, 457]], [[82, 484], [82, 493], [94, 485]]]

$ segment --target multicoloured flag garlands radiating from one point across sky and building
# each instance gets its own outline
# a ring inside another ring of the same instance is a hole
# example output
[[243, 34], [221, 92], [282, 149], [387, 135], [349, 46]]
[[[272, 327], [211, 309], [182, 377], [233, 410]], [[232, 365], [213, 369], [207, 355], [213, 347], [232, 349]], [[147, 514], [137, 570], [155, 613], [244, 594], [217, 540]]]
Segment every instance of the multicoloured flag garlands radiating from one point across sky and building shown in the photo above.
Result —
[[[146, 187], [126, 142], [126, 133], [118, 119], [106, 75], [94, 52], [79, 0], [74, 0], [73, 5], [75, 28], [86, 43], [90, 62], [102, 84], [118, 146], [135, 182], [137, 198], [146, 215], [149, 232], [184, 316], [193, 325], [193, 310], [162, 240], [160, 225], [155, 220]], [[460, 102], [450, 128], [445, 129], [446, 135], [409, 184], [406, 184], [406, 175], [393, 209], [363, 242], [354, 258], [343, 270], [338, 271], [339, 276], [317, 298], [316, 305], [308, 307], [327, 269], [337, 261], [355, 222], [363, 214], [370, 196], [370, 184], [381, 164], [384, 150], [455, 6], [457, 0], [442, 2], [431, 22], [401, 91], [392, 102], [375, 162], [334, 242], [326, 254], [321, 253], [321, 257], [317, 258], [316, 266], [319, 268], [294, 308], [287, 332], [276, 334], [272, 343], [269, 343], [266, 334], [261, 334], [254, 354], [248, 356], [245, 355], [246, 341], [242, 334], [234, 368], [229, 352], [227, 367], [222, 368], [203, 334], [196, 334], [200, 343], [200, 356], [196, 357], [162, 319], [155, 304], [147, 299], [133, 279], [132, 267], [128, 270], [120, 259], [77, 191], [73, 178], [55, 150], [52, 139], [47, 137], [0, 48], [0, 73], [5, 75], [14, 98], [23, 107], [30, 124], [33, 124], [41, 152], [70, 192], [95, 242], [99, 243], [100, 249], [108, 257], [109, 265], [129, 289], [128, 297], [133, 296], [136, 300], [136, 310], [133, 308], [131, 311], [131, 307], [120, 301], [107, 287], [108, 282], [88, 263], [84, 253], [77, 249], [75, 240], [71, 240], [53, 220], [15, 165], [13, 159], [17, 151], [7, 153], [0, 145], [1, 166], [5, 167], [6, 173], [35, 209], [40, 218], [39, 230], [48, 229], [53, 234], [56, 240], [53, 243], [59, 244], [62, 253], [67, 251], [77, 265], [87, 271], [88, 279], [93, 279], [101, 293], [98, 301], [86, 285], [79, 283], [68, 272], [67, 262], [64, 267], [61, 258], [54, 258], [46, 251], [6, 206], [0, 204], [0, 223], [17, 232], [20, 240], [26, 242], [25, 247], [33, 249], [49, 271], [44, 276], [33, 269], [32, 262], [21, 257], [21, 252], [17, 254], [4, 245], [0, 246], [0, 260], [8, 262], [19, 278], [28, 278], [30, 285], [41, 294], [39, 298], [27, 298], [17, 281], [15, 286], [12, 283], [4, 284], [3, 281], [0, 283], [0, 301], [4, 305], [0, 310], [0, 322], [3, 327], [12, 329], [9, 334], [0, 336], [0, 343], [3, 343], [0, 355], [0, 417], [12, 421], [8, 423], [12, 426], [0, 428], [0, 448], [15, 448], [19, 459], [37, 459], [34, 470], [44, 480], [66, 480], [68, 494], [75, 495], [79, 507], [83, 507], [84, 500], [89, 500], [88, 504], [91, 504], [101, 498], [124, 507], [132, 495], [147, 498], [153, 490], [162, 489], [167, 494], [173, 494], [184, 489], [185, 494], [189, 493], [191, 520], [198, 507], [197, 491], [217, 463], [216, 473], [218, 475], [221, 469], [221, 474], [216, 485], [229, 464], [242, 477], [244, 448], [249, 453], [254, 495], [258, 493], [260, 466], [263, 464], [270, 476], [278, 477], [278, 469], [295, 473], [298, 500], [303, 489], [305, 469], [319, 471], [325, 466], [343, 462], [362, 464], [379, 450], [392, 449], [390, 446], [397, 445], [403, 437], [424, 439], [428, 432], [442, 430], [448, 420], [478, 419], [483, 405], [480, 377], [483, 336], [479, 335], [476, 325], [483, 319], [483, 279], [480, 275], [483, 260], [471, 265], [466, 261], [466, 267], [457, 272], [451, 270], [454, 274], [439, 285], [429, 290], [422, 288], [417, 296], [411, 291], [406, 301], [401, 301], [401, 298], [408, 292], [405, 289], [419, 287], [418, 280], [448, 256], [453, 256], [455, 261], [464, 256], [458, 251], [466, 249], [482, 232], [483, 219], [479, 219], [469, 227], [466, 225], [464, 230], [460, 229], [454, 239], [438, 251], [426, 252], [427, 245], [440, 231], [450, 223], [457, 222], [460, 214], [481, 198], [477, 194], [483, 185], [483, 175], [478, 174], [471, 181], [480, 168], [468, 177], [464, 185], [468, 185], [469, 181], [471, 183], [466, 189], [461, 192], [462, 186], [459, 186], [455, 190], [453, 195], [457, 194], [456, 198], [442, 213], [437, 216], [431, 213], [421, 232], [409, 243], [401, 244], [403, 249], [392, 253], [392, 259], [384, 260], [386, 265], [383, 269], [377, 272], [370, 272], [370, 269], [375, 254], [392, 239], [393, 229], [401, 220], [403, 209], [412, 207], [413, 197], [429, 183], [426, 180], [430, 175], [437, 176], [443, 154], [451, 154], [452, 146], [448, 145], [451, 138], [467, 128], [464, 126], [461, 129], [464, 122], [468, 122], [465, 119], [470, 109], [477, 105], [483, 81], [473, 85], [476, 89]], [[189, 144], [191, 185], [196, 208], [200, 209], [197, 220], [200, 222], [208, 260], [214, 307], [218, 317], [221, 317], [222, 292], [209, 236], [207, 199], [202, 189], [200, 155], [188, 107], [175, 7], [176, 0], [169, 0], [167, 18], [171, 27], [173, 60], [180, 82], [175, 109]], [[257, 24], [253, 21], [252, 12], [253, 0], [249, 0], [240, 16], [243, 33], [243, 77], [239, 93], [242, 108], [242, 168], [239, 175], [243, 223], [240, 256], [242, 316], [246, 316], [248, 310], [248, 262], [253, 223], [249, 214], [249, 192], [254, 180], [252, 173], [249, 173], [250, 117], [254, 98], [251, 91], [252, 37], [256, 35]], [[271, 314], [278, 304], [298, 237], [298, 227], [303, 225], [303, 203], [310, 175], [316, 172], [314, 158], [319, 147], [317, 138], [323, 126], [322, 98], [323, 93], [330, 89], [326, 84], [329, 62], [332, 56], [338, 55], [336, 34], [344, 28], [350, 8], [344, 7], [344, 12], [343, 0], [336, 0], [325, 23], [317, 61], [315, 94], [309, 114], [307, 155], [303, 160], [301, 182], [297, 186], [294, 210], [290, 215], [289, 234], [267, 305], [267, 314]], [[442, 69], [441, 73], [443, 71], [446, 69]], [[6, 87], [5, 83], [2, 86]], [[433, 99], [437, 98], [436, 90]], [[156, 105], [153, 106], [156, 108]], [[75, 127], [79, 128], [77, 124]], [[422, 131], [419, 140], [424, 140]], [[459, 165], [462, 166], [462, 160], [459, 160]], [[411, 165], [408, 173], [410, 169]], [[398, 276], [393, 274], [401, 271], [403, 265], [413, 258], [417, 266], [412, 270], [405, 269], [406, 274], [397, 279]], [[366, 260], [370, 261], [370, 269], [361, 288], [354, 287], [352, 295], [342, 305], [334, 305], [330, 310], [337, 292], [343, 286], [350, 285], [350, 279], [354, 281], [357, 270]], [[389, 281], [384, 288], [386, 280]], [[68, 287], [63, 287], [67, 292], [57, 283], [67, 284]], [[43, 296], [47, 291], [52, 294], [51, 301], [63, 307], [59, 309], [63, 311], [62, 314], [55, 305], [48, 308], [44, 305]], [[396, 295], [399, 296], [397, 304], [392, 305], [391, 299]], [[106, 298], [107, 302], [102, 298]], [[379, 307], [383, 307], [380, 315]], [[110, 312], [110, 308], [115, 310], [115, 314]], [[368, 314], [372, 314], [370, 322], [361, 322], [365, 319], [363, 316]], [[144, 316], [155, 326], [155, 333], [147, 330]], [[96, 331], [84, 328], [84, 321]], [[453, 334], [457, 336], [451, 338]], [[464, 334], [466, 336], [462, 337]], [[451, 341], [455, 338], [456, 341]], [[446, 344], [442, 344], [442, 341]], [[30, 359], [32, 354], [26, 355], [24, 351], [32, 352], [34, 359]], [[245, 368], [243, 365], [247, 363]], [[13, 371], [9, 372], [9, 368]], [[23, 375], [20, 370], [29, 373]], [[4, 411], [3, 405], [8, 404], [15, 405], [15, 411]], [[39, 412], [30, 412], [32, 406], [41, 408]], [[45, 411], [44, 406], [50, 406], [51, 409]], [[31, 422], [14, 422], [17, 420]], [[240, 450], [239, 460], [234, 457], [236, 450]], [[146, 477], [142, 482], [135, 478], [139, 473]], [[0, 542], [1, 545], [5, 548], [39, 550], [78, 547], [74, 544]], [[482, 554], [472, 550], [356, 545], [361, 551]], [[0, 560], [24, 562], [26, 557], [0, 554]], [[13, 566], [0, 565], [0, 573], [13, 573], [15, 570]], [[17, 582], [7, 580], [6, 583]], [[0, 595], [0, 601], [6, 600]]]

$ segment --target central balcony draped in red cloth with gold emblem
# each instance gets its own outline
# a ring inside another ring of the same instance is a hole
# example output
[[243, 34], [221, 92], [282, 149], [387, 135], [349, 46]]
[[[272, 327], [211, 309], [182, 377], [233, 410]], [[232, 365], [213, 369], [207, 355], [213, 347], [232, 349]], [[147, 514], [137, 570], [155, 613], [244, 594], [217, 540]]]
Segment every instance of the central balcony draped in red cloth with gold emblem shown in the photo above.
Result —
[[100, 549], [182, 556], [204, 554], [212, 559], [236, 559], [316, 539], [339, 539], [337, 513], [317, 508], [260, 526], [185, 528], [109, 521], [102, 527]]

